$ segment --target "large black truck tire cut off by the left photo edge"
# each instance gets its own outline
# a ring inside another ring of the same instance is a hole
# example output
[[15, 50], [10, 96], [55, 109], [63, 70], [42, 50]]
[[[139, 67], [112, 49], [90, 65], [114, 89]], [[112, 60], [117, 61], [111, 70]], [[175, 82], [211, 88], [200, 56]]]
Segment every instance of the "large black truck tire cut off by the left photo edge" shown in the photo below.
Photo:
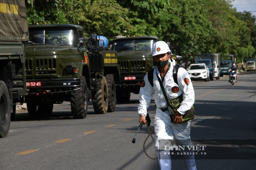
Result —
[[11, 122], [11, 101], [6, 84], [0, 81], [0, 137], [9, 133]]

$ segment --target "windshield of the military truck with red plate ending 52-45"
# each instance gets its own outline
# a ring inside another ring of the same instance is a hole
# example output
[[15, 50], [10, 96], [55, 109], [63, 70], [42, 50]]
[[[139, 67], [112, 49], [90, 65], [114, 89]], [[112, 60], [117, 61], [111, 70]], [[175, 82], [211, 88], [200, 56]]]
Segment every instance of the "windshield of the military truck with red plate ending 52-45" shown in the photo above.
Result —
[[[37, 28], [29, 29], [29, 39], [36, 44], [68, 44], [78, 45], [78, 35], [72, 29]], [[31, 44], [31, 43], [27, 43]], [[26, 44], [26, 45], [27, 45]]]

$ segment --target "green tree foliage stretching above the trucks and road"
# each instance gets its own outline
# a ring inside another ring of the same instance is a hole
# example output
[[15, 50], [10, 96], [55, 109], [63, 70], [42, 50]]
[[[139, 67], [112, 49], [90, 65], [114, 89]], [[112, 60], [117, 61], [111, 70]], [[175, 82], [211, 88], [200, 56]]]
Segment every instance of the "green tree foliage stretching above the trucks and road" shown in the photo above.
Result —
[[26, 0], [29, 24], [76, 24], [103, 33], [156, 36], [187, 59], [200, 53], [256, 56], [256, 17], [226, 0]]

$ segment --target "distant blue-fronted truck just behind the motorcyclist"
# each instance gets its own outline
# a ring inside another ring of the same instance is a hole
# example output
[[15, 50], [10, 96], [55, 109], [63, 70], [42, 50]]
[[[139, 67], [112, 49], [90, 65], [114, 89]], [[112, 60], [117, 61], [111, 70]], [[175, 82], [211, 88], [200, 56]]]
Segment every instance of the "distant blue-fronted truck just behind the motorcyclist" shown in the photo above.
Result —
[[233, 62], [235, 62], [234, 55], [221, 56], [221, 77], [223, 77], [223, 75], [230, 74], [228, 69], [232, 66]]

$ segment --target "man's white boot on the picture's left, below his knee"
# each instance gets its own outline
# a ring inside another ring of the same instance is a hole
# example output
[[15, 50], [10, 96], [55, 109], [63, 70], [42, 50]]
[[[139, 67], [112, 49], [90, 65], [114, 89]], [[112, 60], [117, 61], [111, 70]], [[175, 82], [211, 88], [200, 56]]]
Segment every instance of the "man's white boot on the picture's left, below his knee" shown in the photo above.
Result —
[[172, 163], [171, 163], [171, 154], [169, 151], [157, 151], [158, 155], [158, 162], [160, 165], [161, 170], [171, 170]]

